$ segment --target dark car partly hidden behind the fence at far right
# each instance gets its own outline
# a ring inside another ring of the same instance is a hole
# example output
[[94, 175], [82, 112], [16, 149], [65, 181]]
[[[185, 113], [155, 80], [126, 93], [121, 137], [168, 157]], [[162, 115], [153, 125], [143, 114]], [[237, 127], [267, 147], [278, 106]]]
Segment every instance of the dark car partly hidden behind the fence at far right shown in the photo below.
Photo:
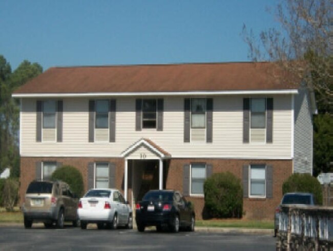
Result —
[[280, 205], [275, 210], [274, 215], [274, 236], [279, 231], [279, 218], [282, 204], [293, 205], [315, 205], [314, 195], [311, 193], [286, 193], [283, 195]]

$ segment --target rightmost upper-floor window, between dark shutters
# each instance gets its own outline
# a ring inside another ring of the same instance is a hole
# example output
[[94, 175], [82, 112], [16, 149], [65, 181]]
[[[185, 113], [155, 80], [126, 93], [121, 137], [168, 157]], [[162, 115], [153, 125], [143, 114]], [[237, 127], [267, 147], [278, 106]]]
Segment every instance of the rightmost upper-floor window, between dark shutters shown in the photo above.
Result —
[[266, 99], [251, 99], [251, 128], [266, 128]]

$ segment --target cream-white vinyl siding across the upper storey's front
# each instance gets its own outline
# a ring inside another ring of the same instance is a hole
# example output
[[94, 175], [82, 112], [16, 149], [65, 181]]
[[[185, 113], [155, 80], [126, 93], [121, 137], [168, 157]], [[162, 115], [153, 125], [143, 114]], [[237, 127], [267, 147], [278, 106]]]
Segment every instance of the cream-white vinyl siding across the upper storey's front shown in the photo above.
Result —
[[[273, 95], [272, 144], [243, 144], [243, 96], [214, 96], [213, 142], [183, 142], [184, 98], [163, 97], [163, 131], [135, 131], [134, 97], [117, 98], [116, 142], [89, 143], [88, 98], [64, 98], [63, 142], [36, 142], [36, 100], [22, 99], [20, 152], [22, 156], [120, 157], [141, 138], [149, 138], [173, 158], [290, 159], [292, 110], [290, 95]], [[193, 137], [193, 135], [191, 135]], [[200, 137], [200, 133], [198, 136]], [[203, 137], [201, 135], [201, 137]]]

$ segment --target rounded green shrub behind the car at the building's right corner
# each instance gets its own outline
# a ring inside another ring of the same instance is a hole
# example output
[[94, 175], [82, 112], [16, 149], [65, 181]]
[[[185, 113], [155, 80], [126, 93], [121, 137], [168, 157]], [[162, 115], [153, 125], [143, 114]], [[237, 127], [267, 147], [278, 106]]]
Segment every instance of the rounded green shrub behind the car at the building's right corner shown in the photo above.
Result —
[[313, 193], [316, 203], [321, 205], [323, 203], [323, 192], [319, 181], [310, 174], [293, 174], [283, 184], [282, 192], [294, 193], [304, 192]]

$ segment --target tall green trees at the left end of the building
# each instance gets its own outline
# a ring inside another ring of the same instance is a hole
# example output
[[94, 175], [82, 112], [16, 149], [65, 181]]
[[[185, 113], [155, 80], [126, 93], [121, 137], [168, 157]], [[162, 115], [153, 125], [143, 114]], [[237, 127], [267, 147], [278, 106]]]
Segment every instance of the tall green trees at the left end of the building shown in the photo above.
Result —
[[31, 78], [43, 72], [37, 63], [24, 60], [12, 72], [10, 64], [0, 55], [0, 173], [11, 169], [11, 176], [19, 176], [19, 101], [11, 98], [12, 92]]

